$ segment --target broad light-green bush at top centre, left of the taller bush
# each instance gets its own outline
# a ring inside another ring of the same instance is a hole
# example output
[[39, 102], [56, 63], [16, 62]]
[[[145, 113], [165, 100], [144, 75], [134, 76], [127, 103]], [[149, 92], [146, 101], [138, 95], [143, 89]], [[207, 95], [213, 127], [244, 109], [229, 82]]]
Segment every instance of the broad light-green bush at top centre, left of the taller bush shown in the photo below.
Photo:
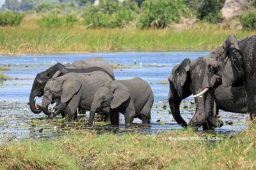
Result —
[[84, 24], [90, 27], [122, 27], [129, 24], [138, 12], [136, 3], [102, 1], [100, 6], [87, 6], [83, 13]]

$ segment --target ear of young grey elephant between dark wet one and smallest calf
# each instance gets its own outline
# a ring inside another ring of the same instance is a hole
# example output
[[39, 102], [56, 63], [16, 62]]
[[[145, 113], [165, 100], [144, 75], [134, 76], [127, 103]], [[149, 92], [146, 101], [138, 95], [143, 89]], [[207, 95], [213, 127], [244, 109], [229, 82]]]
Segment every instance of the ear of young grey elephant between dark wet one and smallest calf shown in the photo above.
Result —
[[80, 81], [77, 80], [66, 80], [63, 81], [61, 91], [61, 103], [69, 101], [82, 87]]

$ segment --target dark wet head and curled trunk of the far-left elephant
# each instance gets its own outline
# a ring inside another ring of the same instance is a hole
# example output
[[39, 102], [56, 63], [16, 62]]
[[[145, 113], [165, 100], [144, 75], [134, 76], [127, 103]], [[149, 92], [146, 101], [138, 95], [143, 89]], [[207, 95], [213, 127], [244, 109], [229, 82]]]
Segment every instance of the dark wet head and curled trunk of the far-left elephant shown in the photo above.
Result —
[[32, 89], [29, 96], [29, 106], [33, 113], [41, 113], [41, 108], [36, 108], [36, 97], [44, 96], [44, 87], [49, 79], [51, 79], [56, 72], [63, 68], [63, 64], [57, 63], [49, 69], [36, 74]]

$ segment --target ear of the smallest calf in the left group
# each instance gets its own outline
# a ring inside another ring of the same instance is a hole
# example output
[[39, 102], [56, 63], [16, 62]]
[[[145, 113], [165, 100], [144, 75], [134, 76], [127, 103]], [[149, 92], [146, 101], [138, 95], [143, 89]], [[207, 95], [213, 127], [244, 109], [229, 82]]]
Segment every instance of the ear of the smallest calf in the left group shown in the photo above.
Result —
[[115, 109], [130, 97], [130, 91], [122, 83], [118, 83], [113, 90], [114, 97], [110, 103], [110, 108]]

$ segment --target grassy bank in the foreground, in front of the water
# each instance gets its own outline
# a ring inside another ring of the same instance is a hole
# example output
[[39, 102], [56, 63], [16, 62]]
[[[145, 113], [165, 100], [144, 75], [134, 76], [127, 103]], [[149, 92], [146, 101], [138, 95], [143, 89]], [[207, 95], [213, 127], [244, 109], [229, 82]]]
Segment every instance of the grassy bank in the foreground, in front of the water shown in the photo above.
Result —
[[1, 169], [255, 169], [256, 125], [223, 141], [185, 131], [148, 134], [79, 132], [63, 139], [29, 139], [0, 146]]

